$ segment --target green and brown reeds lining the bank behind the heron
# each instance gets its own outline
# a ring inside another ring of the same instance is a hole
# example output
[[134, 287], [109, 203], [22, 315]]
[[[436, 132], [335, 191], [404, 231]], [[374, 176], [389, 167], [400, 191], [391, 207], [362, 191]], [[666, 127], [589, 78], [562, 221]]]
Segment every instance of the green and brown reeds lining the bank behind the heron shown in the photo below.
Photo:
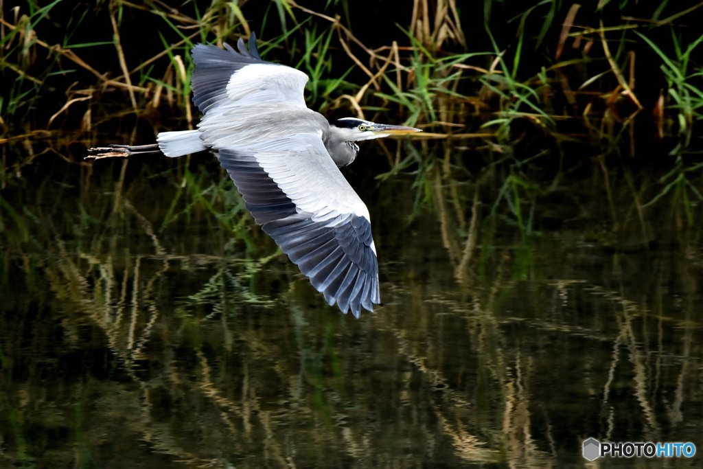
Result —
[[[669, 127], [681, 134], [685, 148], [703, 96], [692, 62], [701, 38], [691, 41], [682, 29], [695, 8], [637, 7], [630, 1], [599, 2], [587, 11], [550, 0], [459, 9], [454, 0], [437, 1], [434, 8], [415, 0], [411, 23], [392, 26], [399, 34], [385, 34], [395, 40], [370, 47], [373, 35], [354, 32], [360, 22], [355, 8], [360, 7], [345, 0], [316, 11], [281, 0], [256, 6], [215, 1], [207, 7], [193, 1], [178, 11], [123, 0], [68, 11], [59, 1], [41, 7], [29, 1], [1, 18], [0, 67], [11, 86], [1, 92], [0, 124], [5, 134], [22, 131], [27, 122], [65, 129], [77, 120], [83, 129], [98, 124], [100, 131], [106, 115], [124, 115], [131, 108], [134, 115], [153, 119], [167, 106], [192, 125], [188, 76], [193, 43], [232, 41], [259, 30], [264, 56], [307, 72], [309, 101], [316, 108], [383, 110], [406, 116], [410, 124], [441, 128], [439, 135], [470, 131], [467, 126], [475, 121], [467, 120], [467, 112], [473, 108], [482, 127], [494, 130], [500, 143], [513, 141], [526, 123], [559, 135], [568, 131], [560, 121], [579, 117], [579, 112], [593, 119], [598, 108], [607, 119], [621, 101], [620, 91], [641, 107], [631, 74], [638, 71], [635, 60], [642, 46], [650, 46], [669, 83], [662, 119], [675, 116]], [[53, 20], [62, 15], [65, 27], [57, 27]], [[472, 30], [469, 18], [483, 18], [484, 28]], [[153, 25], [153, 34], [140, 39], [153, 38], [150, 44], [138, 46], [124, 33], [136, 23]], [[655, 34], [640, 32], [644, 27]], [[671, 39], [657, 40], [665, 34]], [[114, 60], [106, 60], [110, 55]], [[604, 63], [609, 72], [602, 72]], [[360, 79], [364, 75], [366, 82]], [[58, 93], [47, 94], [52, 88]], [[605, 93], [605, 103], [590, 94], [596, 90]], [[562, 97], [569, 108], [560, 104]], [[97, 121], [96, 115], [101, 116]]]

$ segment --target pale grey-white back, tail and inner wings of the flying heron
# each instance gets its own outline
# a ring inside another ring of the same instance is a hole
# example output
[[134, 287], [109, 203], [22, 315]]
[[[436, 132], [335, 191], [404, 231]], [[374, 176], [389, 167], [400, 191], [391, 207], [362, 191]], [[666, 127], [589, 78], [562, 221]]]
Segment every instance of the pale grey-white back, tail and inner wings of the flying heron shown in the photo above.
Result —
[[[288, 75], [297, 80], [296, 89], [290, 86]], [[259, 85], [247, 94], [245, 86], [252, 88], [252, 82]], [[157, 136], [159, 147], [170, 157], [209, 149], [252, 150], [259, 165], [295, 203], [297, 212], [309, 213], [320, 222], [344, 214], [370, 221], [368, 208], [325, 149], [318, 129], [328, 126], [327, 120], [295, 98], [303, 96], [306, 82], [307, 75], [294, 68], [247, 65], [232, 75], [228, 99], [207, 111], [198, 130], [161, 132]], [[280, 96], [289, 101], [276, 100], [279, 84], [285, 85]], [[254, 103], [251, 96], [261, 99]], [[276, 108], [272, 110], [266, 101], [276, 102]], [[278, 125], [286, 121], [290, 122]], [[262, 134], [259, 129], [264, 126], [271, 131]], [[371, 249], [375, 252], [373, 243]]]

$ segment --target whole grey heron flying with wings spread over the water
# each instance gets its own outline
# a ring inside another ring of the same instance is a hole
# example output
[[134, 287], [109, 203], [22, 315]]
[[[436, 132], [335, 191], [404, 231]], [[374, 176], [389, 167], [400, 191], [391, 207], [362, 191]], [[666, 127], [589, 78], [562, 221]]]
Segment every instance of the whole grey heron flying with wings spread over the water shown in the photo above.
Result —
[[331, 305], [357, 318], [380, 304], [378, 260], [368, 209], [338, 167], [356, 142], [418, 132], [354, 117], [328, 122], [307, 108], [300, 70], [266, 62], [256, 37], [239, 51], [225, 44], [193, 48], [198, 129], [165, 131], [152, 145], [90, 148], [86, 158], [210, 150], [243, 195], [254, 221], [276, 241]]

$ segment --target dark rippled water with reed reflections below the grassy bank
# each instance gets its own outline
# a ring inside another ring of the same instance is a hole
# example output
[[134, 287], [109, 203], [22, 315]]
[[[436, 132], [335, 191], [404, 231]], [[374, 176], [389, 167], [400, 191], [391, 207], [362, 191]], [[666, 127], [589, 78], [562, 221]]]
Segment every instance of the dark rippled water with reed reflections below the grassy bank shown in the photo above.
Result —
[[498, 175], [474, 198], [438, 168], [424, 185], [359, 169], [385, 305], [356, 320], [237, 221], [217, 167], [160, 164], [44, 158], [1, 192], [0, 466], [581, 467], [588, 437], [703, 450], [697, 205], [642, 209], [597, 172], [508, 203]]

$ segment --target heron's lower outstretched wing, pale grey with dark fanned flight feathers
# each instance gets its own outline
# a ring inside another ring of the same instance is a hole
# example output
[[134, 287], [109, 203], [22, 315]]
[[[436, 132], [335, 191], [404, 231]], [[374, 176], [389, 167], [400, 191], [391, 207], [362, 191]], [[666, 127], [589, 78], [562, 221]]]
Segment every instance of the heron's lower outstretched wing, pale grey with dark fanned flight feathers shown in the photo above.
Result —
[[[368, 211], [341, 174], [337, 179], [325, 174], [324, 165], [316, 165], [319, 156], [316, 153], [323, 151], [324, 146], [315, 139], [319, 137], [294, 136], [287, 153], [281, 152], [280, 142], [275, 146], [264, 143], [257, 150], [252, 146], [245, 150], [221, 148], [218, 158], [243, 195], [254, 220], [323, 293], [329, 304], [336, 302], [344, 313], [352, 311], [359, 317], [361, 308], [373, 311], [373, 304], [380, 302], [378, 261], [370, 221], [368, 215], [356, 213]], [[262, 161], [274, 160], [266, 151], [272, 147], [277, 150], [278, 160], [267, 167]], [[331, 162], [329, 156], [327, 158]], [[288, 160], [290, 164], [286, 163]], [[300, 164], [301, 161], [309, 161], [309, 164]], [[295, 180], [294, 169], [303, 171], [297, 177], [305, 181], [302, 187], [308, 188], [307, 193], [300, 189], [297, 195], [286, 193], [288, 182], [281, 181]], [[337, 167], [332, 169], [339, 173]], [[333, 182], [315, 185], [314, 181], [323, 179]], [[344, 199], [346, 202], [342, 203]], [[328, 207], [333, 204], [338, 207]], [[329, 213], [336, 215], [317, 219], [319, 214]]]

